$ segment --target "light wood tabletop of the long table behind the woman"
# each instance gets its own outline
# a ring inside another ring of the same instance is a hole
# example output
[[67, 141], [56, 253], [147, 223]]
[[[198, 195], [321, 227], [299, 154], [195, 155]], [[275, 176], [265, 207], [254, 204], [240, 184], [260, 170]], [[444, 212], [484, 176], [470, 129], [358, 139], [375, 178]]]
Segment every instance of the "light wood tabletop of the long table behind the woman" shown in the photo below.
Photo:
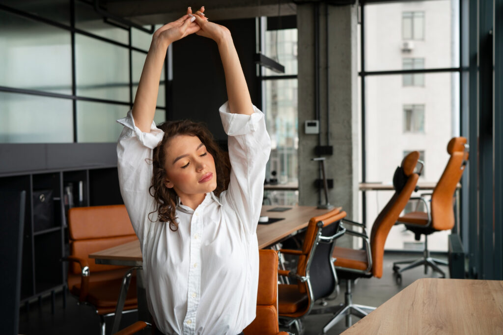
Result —
[[[286, 211], [269, 211], [277, 207], [290, 209]], [[262, 206], [261, 215], [283, 219], [269, 225], [259, 225], [257, 227], [259, 248], [267, 248], [294, 232], [307, 227], [311, 217], [327, 211], [327, 209], [317, 209], [315, 206]], [[89, 257], [95, 259], [97, 264], [141, 266], [142, 263], [140, 242], [138, 240], [95, 252], [90, 254]]]

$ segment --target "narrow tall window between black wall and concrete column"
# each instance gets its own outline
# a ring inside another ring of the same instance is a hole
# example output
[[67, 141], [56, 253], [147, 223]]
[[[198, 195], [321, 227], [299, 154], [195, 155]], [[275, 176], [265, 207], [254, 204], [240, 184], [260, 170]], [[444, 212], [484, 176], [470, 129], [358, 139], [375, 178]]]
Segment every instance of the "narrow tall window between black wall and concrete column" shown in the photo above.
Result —
[[[298, 187], [297, 29], [266, 30], [263, 53], [285, 66], [278, 74], [263, 68], [264, 113], [272, 150], [266, 179], [270, 187]], [[266, 191], [266, 202], [293, 205], [298, 190]]]

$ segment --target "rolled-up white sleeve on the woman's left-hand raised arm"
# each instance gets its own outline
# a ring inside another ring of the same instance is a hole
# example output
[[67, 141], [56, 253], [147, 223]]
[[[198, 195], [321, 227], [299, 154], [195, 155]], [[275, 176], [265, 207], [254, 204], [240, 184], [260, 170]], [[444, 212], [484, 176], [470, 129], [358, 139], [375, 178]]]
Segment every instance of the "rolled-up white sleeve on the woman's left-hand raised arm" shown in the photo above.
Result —
[[153, 204], [153, 197], [149, 194], [152, 149], [159, 144], [164, 133], [153, 122], [150, 133], [143, 133], [135, 126], [131, 110], [117, 122], [124, 126], [117, 144], [119, 185], [131, 223], [141, 240], [140, 226], [144, 222], [145, 213], [148, 213]]

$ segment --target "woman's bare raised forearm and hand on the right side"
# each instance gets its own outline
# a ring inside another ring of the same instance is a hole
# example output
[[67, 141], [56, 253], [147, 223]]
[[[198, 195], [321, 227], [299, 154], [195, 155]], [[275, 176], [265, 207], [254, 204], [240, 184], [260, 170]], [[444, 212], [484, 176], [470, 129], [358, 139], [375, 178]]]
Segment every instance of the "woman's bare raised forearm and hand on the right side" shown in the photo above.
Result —
[[225, 85], [227, 86], [227, 97], [231, 113], [253, 114], [248, 86], [229, 30], [224, 26], [208, 22], [200, 16], [196, 16], [196, 23], [201, 27], [196, 34], [211, 38], [218, 45], [225, 72]]

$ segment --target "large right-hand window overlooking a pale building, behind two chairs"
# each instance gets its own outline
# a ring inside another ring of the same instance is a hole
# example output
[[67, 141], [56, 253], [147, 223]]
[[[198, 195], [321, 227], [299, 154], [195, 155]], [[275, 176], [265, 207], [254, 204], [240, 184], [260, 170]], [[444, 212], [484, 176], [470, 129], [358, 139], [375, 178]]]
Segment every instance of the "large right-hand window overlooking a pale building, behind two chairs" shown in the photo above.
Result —
[[[449, 159], [447, 143], [460, 133], [458, 5], [432, 0], [364, 6], [366, 182], [391, 184], [396, 167], [413, 150], [425, 162], [418, 184], [439, 180]], [[369, 229], [392, 194], [365, 192]], [[429, 249], [447, 251], [449, 234], [430, 235]], [[422, 239], [415, 241], [413, 233], [398, 225], [385, 248], [423, 250]]]

